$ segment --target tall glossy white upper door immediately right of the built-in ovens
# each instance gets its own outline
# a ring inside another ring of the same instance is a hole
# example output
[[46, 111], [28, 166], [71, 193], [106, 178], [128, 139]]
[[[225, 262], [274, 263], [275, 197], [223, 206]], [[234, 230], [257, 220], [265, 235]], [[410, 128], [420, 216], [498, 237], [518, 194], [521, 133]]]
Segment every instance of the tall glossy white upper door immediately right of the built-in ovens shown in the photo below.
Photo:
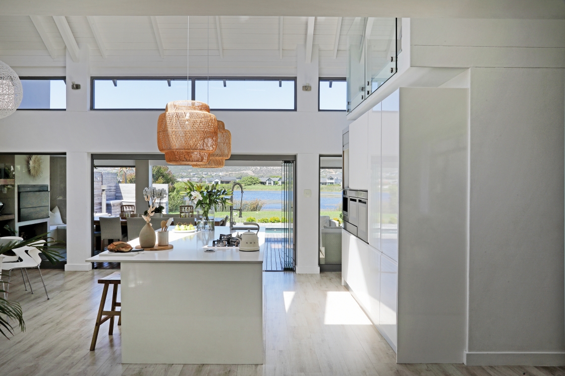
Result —
[[381, 104], [368, 112], [368, 242], [381, 250]]

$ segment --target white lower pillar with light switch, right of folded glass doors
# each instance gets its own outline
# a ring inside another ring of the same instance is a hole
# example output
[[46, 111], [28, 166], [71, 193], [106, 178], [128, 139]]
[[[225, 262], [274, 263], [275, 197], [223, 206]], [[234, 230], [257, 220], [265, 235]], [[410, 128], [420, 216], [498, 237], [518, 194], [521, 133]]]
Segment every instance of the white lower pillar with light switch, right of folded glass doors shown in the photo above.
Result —
[[[296, 272], [319, 273], [319, 154], [299, 153], [296, 161]], [[310, 192], [308, 192], [310, 191]], [[309, 194], [310, 197], [307, 197]]]

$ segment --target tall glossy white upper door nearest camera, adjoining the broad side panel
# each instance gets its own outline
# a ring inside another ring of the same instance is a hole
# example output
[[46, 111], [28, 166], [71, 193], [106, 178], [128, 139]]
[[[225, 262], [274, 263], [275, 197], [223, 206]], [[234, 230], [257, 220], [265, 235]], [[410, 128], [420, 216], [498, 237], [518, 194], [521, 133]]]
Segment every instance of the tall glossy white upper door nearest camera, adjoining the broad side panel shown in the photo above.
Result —
[[381, 251], [398, 261], [398, 90], [382, 106]]

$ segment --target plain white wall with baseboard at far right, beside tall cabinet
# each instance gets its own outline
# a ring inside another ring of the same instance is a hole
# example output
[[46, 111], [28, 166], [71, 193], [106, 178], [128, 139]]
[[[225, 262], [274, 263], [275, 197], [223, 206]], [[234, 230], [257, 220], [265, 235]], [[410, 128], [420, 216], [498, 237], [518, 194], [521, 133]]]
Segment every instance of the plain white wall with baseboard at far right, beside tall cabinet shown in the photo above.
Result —
[[471, 69], [467, 364], [565, 364], [564, 103], [563, 69]]

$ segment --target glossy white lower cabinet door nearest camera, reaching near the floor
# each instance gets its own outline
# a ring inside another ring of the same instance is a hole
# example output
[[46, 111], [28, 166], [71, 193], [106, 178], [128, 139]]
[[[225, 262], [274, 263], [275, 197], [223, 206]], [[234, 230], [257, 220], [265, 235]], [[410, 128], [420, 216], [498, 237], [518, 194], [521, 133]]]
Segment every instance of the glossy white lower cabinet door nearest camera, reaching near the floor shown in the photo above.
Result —
[[383, 337], [396, 351], [398, 265], [386, 256], [381, 257], [380, 324]]

